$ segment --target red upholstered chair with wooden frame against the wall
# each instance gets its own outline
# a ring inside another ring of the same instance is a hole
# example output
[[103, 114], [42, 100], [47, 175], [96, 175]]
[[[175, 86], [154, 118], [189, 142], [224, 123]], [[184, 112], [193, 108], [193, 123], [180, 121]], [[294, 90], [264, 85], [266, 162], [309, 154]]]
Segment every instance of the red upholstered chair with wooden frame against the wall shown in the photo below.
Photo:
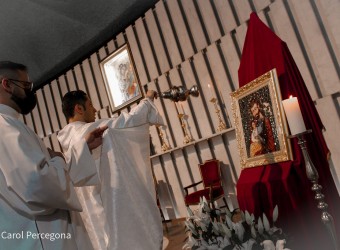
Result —
[[[200, 197], [205, 197], [209, 203], [214, 206], [214, 201], [223, 198], [225, 206], [227, 201], [224, 197], [224, 191], [221, 180], [221, 170], [219, 160], [207, 160], [203, 164], [199, 164], [202, 180], [184, 187], [185, 197], [184, 202], [186, 206], [196, 205], [200, 202]], [[193, 188], [203, 182], [204, 188], [193, 193], [188, 193], [189, 188]]]

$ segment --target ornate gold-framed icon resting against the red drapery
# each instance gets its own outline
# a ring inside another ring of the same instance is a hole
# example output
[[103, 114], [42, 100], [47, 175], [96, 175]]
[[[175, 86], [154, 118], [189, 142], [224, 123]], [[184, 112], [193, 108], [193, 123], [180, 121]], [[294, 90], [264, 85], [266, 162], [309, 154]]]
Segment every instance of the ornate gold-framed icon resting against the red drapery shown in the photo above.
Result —
[[276, 70], [263, 74], [230, 95], [241, 167], [291, 160]]

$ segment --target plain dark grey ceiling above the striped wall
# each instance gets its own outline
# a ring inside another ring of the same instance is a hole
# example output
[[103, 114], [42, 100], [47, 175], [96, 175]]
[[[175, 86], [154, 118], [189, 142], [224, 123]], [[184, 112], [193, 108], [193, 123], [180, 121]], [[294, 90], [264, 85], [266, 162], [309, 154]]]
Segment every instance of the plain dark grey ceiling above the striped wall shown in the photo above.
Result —
[[102, 47], [158, 0], [1, 0], [0, 61], [28, 66], [35, 88]]

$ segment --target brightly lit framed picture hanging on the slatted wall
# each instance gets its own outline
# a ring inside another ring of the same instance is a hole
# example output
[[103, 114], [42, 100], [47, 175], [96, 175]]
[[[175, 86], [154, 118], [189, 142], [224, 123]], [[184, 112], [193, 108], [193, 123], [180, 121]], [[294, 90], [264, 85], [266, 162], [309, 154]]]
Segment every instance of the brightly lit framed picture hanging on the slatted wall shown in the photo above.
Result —
[[128, 44], [102, 60], [100, 69], [113, 112], [143, 97]]

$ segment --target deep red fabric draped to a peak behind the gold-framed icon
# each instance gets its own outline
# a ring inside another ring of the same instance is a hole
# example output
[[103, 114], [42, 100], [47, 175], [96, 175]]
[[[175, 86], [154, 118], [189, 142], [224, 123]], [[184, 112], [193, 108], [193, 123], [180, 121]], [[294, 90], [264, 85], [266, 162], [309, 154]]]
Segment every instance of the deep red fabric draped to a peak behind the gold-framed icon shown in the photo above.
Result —
[[[306, 128], [313, 130], [306, 135], [308, 151], [340, 237], [340, 198], [328, 165], [329, 150], [321, 119], [286, 43], [252, 13], [238, 71], [239, 87], [273, 68], [277, 70], [282, 99], [296, 96]], [[292, 237], [294, 249], [333, 249], [296, 139], [292, 140], [292, 150], [293, 161], [242, 170], [237, 183], [239, 206], [256, 216], [263, 212], [270, 216], [278, 205], [279, 223]]]

